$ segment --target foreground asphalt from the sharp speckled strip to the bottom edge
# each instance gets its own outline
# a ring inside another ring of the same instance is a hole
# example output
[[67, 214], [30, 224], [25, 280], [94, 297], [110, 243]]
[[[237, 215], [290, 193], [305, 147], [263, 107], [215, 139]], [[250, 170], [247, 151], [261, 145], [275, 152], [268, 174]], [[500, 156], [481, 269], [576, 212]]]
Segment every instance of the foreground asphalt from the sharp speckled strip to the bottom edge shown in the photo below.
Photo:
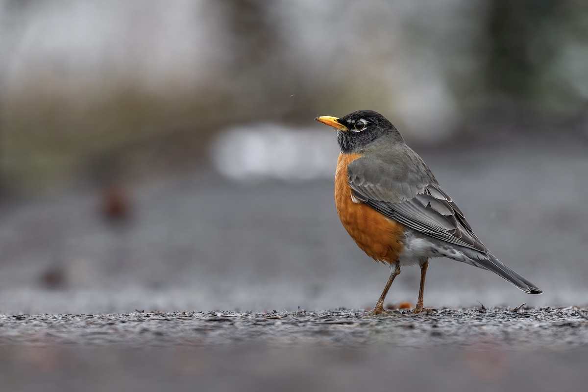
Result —
[[563, 309], [1, 316], [6, 390], [582, 390], [588, 316]]

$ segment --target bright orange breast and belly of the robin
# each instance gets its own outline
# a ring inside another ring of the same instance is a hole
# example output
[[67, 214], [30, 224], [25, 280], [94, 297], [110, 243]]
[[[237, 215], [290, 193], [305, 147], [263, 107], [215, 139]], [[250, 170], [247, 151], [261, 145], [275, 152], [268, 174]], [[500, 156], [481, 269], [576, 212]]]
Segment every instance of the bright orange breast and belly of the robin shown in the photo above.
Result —
[[402, 252], [404, 227], [351, 197], [347, 166], [359, 154], [340, 154], [335, 173], [335, 205], [343, 227], [369, 257], [379, 262], [395, 263]]

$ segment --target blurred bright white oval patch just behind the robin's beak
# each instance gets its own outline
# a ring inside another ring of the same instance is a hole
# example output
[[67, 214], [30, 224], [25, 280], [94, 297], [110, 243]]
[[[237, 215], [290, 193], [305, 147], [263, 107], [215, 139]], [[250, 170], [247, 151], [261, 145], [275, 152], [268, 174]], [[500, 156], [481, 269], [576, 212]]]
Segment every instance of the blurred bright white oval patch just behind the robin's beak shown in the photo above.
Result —
[[329, 129], [273, 123], [230, 128], [212, 145], [215, 169], [242, 181], [332, 179], [338, 155], [335, 132]]

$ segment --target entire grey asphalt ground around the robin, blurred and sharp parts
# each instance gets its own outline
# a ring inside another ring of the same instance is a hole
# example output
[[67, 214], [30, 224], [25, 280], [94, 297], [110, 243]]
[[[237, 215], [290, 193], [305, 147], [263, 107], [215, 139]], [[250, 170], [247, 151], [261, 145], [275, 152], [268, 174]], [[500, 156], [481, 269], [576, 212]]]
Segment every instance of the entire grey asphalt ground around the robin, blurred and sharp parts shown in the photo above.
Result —
[[[438, 313], [423, 315], [365, 316], [389, 272], [340, 226], [332, 180], [129, 183], [118, 222], [91, 189], [5, 202], [0, 379], [23, 391], [583, 390], [587, 151], [419, 150], [480, 239], [544, 291], [433, 260], [425, 304]], [[403, 269], [387, 303], [414, 304], [418, 277]]]

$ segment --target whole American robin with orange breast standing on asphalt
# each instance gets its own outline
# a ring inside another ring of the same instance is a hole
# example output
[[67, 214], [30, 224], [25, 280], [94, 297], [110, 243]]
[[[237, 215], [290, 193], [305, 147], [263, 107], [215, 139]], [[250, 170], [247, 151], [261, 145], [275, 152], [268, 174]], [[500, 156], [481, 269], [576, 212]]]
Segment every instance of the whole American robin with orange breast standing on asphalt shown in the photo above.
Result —
[[316, 120], [337, 129], [341, 153], [335, 173], [339, 218], [358, 246], [389, 264], [390, 277], [372, 310], [385, 313], [384, 299], [400, 266], [420, 266], [414, 313], [423, 310], [425, 275], [432, 257], [449, 257], [490, 270], [523, 292], [541, 294], [480, 242], [462, 211], [439, 186], [422, 158], [380, 113], [358, 110]]

